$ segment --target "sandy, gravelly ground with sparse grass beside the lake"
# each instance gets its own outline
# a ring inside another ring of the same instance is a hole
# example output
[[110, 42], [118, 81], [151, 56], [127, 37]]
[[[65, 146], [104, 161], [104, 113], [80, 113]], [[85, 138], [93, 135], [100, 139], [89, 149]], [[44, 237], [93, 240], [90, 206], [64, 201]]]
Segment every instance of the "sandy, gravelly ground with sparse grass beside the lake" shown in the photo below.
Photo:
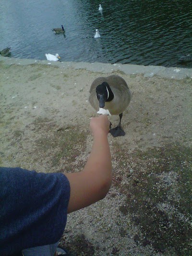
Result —
[[[0, 61], [0, 165], [80, 171], [89, 155], [87, 99], [111, 73]], [[192, 255], [192, 79], [122, 76], [132, 91], [123, 137], [108, 135], [113, 183], [105, 199], [68, 216], [72, 255]], [[118, 116], [110, 121], [115, 126]]]

